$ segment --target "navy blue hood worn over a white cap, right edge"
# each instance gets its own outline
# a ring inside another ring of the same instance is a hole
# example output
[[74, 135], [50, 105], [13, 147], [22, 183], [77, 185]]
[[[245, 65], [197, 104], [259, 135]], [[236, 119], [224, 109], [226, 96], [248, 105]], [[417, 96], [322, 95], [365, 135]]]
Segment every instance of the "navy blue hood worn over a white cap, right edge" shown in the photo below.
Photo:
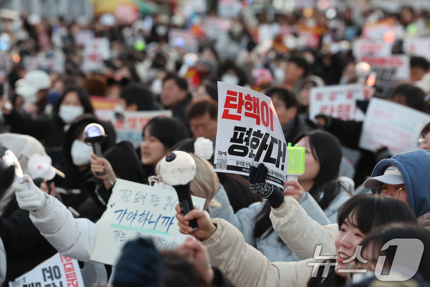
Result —
[[383, 159], [373, 169], [372, 178], [383, 175], [388, 165], [395, 165], [402, 174], [408, 204], [415, 215], [419, 217], [430, 211], [430, 151], [413, 150]]

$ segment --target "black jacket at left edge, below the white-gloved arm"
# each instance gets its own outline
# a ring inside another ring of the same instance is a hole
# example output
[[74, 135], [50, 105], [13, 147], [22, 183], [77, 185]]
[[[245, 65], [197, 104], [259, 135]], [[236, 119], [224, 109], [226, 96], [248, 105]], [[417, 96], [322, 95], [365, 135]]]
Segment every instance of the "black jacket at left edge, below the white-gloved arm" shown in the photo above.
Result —
[[0, 216], [0, 237], [6, 250], [6, 281], [12, 281], [57, 253], [20, 209], [13, 197]]

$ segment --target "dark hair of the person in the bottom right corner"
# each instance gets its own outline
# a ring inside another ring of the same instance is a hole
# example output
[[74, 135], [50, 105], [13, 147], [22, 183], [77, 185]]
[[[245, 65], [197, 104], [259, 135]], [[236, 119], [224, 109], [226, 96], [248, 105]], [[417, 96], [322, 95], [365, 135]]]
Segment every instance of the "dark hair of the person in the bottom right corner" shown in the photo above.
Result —
[[[424, 244], [424, 253], [421, 257], [420, 265], [418, 266], [417, 273], [420, 273], [424, 280], [430, 282], [430, 273], [428, 268], [430, 266], [430, 231], [415, 225], [405, 225], [400, 223], [393, 223], [384, 228], [372, 231], [362, 241], [362, 250], [366, 248], [372, 248], [373, 254], [376, 256], [387, 256], [385, 262], [390, 263], [394, 261], [396, 255], [397, 246], [390, 246], [383, 252], [381, 251], [382, 246], [392, 239], [396, 238], [416, 238], [421, 240]], [[369, 258], [364, 258], [368, 260]], [[406, 266], [405, 266], [406, 267]]]

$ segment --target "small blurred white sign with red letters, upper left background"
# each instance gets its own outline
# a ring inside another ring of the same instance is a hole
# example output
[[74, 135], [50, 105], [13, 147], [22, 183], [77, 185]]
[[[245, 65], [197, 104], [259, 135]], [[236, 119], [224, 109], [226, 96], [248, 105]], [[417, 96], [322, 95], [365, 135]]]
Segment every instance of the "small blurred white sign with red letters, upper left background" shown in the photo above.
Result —
[[85, 43], [81, 69], [97, 71], [103, 68], [103, 61], [111, 58], [111, 46], [106, 37], [90, 39]]

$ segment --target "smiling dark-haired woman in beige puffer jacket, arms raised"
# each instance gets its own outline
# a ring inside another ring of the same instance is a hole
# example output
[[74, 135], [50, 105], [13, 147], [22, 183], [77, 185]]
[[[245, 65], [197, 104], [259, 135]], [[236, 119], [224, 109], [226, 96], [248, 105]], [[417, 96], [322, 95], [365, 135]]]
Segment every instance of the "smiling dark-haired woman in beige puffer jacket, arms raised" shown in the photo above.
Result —
[[[279, 193], [281, 192], [279, 191]], [[304, 234], [306, 234], [306, 230], [309, 230], [308, 228], [315, 228], [318, 236], [322, 236], [326, 232], [321, 225], [310, 219], [301, 207], [298, 206], [298, 210], [303, 212], [300, 216], [290, 213], [290, 206], [297, 205], [294, 198], [286, 197], [284, 199], [281, 193], [279, 199], [271, 201], [273, 206], [277, 205], [273, 208], [283, 209], [285, 215], [292, 216], [294, 221], [292, 224], [299, 225], [301, 230], [301, 240], [307, 237]], [[349, 265], [343, 263], [344, 258], [353, 256], [356, 247], [366, 234], [374, 228], [391, 222], [417, 224], [412, 211], [399, 200], [370, 194], [352, 197], [339, 212], [339, 232], [335, 235], [335, 249], [331, 249], [331, 253], [329, 253], [331, 256], [337, 256], [338, 264], [329, 270], [327, 276], [323, 276], [322, 272], [325, 268], [321, 267], [326, 265], [324, 262], [310, 258], [299, 262], [270, 263], [270, 260], [254, 247], [245, 244], [240, 231], [227, 221], [212, 219], [211, 222], [211, 219], [198, 209], [194, 209], [184, 216], [181, 214], [179, 205], [176, 206], [176, 211], [181, 233], [191, 234], [202, 240], [203, 245], [208, 248], [212, 265], [223, 271], [227, 278], [238, 286], [279, 286], [281, 282], [290, 282], [295, 286], [322, 286], [321, 284], [342, 286], [346, 282], [347, 273], [339, 273], [339, 269], [347, 269]], [[199, 226], [197, 231], [192, 231], [192, 228], [188, 226], [191, 219], [197, 220]], [[332, 240], [332, 237], [330, 238]], [[312, 239], [310, 238], [310, 240]], [[306, 240], [306, 242], [309, 241]], [[304, 245], [306, 244], [304, 243]], [[318, 268], [316, 277], [311, 277], [314, 264], [308, 265], [313, 262], [317, 264], [316, 266], [321, 266]], [[334, 261], [330, 262], [334, 263]]]

